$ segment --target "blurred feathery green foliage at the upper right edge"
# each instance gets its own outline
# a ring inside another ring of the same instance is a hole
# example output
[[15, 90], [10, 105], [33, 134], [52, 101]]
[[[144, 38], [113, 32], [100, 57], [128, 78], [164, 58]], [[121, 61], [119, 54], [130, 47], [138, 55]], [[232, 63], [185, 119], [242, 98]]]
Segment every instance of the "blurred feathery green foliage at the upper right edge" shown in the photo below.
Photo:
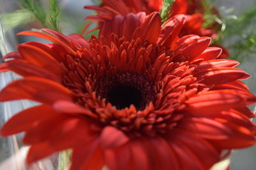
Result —
[[[239, 16], [229, 15], [222, 22], [225, 29], [220, 32], [217, 43], [228, 43], [230, 59], [242, 62], [256, 53], [256, 3]], [[231, 41], [230, 41], [231, 39]]]

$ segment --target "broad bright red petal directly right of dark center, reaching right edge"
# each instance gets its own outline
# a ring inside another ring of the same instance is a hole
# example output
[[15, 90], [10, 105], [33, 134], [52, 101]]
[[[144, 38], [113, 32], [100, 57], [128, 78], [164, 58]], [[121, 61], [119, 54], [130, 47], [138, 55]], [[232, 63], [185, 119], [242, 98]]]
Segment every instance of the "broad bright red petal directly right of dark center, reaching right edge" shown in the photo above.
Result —
[[243, 108], [256, 102], [256, 97], [250, 92], [241, 90], [213, 90], [191, 97], [186, 103], [186, 110], [191, 115], [205, 116], [230, 108]]

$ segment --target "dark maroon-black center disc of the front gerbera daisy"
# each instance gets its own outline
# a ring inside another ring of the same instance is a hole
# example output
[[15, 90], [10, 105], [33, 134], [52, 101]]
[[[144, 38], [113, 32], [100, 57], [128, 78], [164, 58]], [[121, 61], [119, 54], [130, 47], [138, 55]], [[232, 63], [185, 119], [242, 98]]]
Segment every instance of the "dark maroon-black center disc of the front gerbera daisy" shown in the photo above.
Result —
[[118, 110], [128, 108], [131, 104], [137, 110], [143, 110], [156, 96], [154, 83], [150, 78], [132, 72], [100, 78], [96, 92]]

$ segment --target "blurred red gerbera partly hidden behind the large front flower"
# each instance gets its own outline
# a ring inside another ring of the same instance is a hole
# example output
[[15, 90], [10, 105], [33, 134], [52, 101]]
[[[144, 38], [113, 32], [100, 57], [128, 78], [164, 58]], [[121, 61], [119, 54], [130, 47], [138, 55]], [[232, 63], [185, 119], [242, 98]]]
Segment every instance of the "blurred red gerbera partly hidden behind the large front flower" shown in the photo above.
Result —
[[[102, 23], [111, 20], [115, 15], [125, 16], [127, 13], [139, 13], [141, 11], [144, 11], [148, 15], [153, 11], [159, 11], [162, 2], [162, 0], [103, 0], [100, 6], [84, 6], [84, 8], [97, 11], [98, 15], [88, 16], [86, 20], [99, 21], [99, 28], [101, 28]], [[177, 14], [188, 15], [179, 36], [195, 34], [198, 36], [209, 36], [213, 39], [218, 37], [217, 32], [220, 31], [220, 25], [217, 22], [212, 23], [206, 28], [202, 26], [204, 24], [205, 13], [203, 3], [202, 0], [174, 1], [171, 16], [173, 17]], [[212, 13], [219, 16], [216, 8], [212, 8]], [[88, 25], [86, 25], [86, 27], [88, 27]], [[84, 27], [84, 29], [86, 29], [86, 27]], [[93, 30], [94, 29], [91, 31]], [[220, 46], [220, 48], [223, 50], [219, 58], [227, 58], [229, 56], [227, 48], [222, 46]]]

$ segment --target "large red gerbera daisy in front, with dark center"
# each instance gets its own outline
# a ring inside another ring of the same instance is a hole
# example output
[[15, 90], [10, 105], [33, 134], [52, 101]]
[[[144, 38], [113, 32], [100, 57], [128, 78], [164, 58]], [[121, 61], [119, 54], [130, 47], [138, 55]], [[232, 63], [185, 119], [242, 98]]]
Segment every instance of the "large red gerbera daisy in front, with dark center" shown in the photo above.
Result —
[[70, 169], [209, 169], [223, 150], [255, 143], [253, 96], [238, 62], [218, 59], [211, 38], [178, 38], [186, 16], [161, 27], [154, 12], [116, 15], [90, 40], [49, 29], [1, 65], [24, 76], [0, 101], [42, 103], [21, 111], [2, 136], [25, 132], [28, 163], [72, 149]]

